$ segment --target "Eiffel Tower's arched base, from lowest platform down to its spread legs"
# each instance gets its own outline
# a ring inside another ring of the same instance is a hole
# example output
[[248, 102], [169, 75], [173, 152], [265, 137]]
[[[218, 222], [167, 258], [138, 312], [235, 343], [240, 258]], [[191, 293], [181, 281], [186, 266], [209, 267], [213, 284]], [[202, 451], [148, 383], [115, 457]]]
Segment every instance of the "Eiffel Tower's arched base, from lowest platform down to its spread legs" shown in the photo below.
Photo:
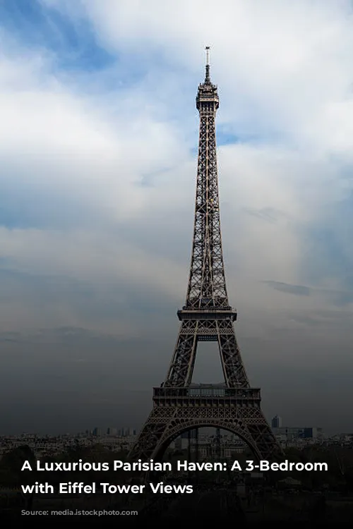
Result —
[[260, 389], [254, 388], [203, 384], [154, 388], [152, 412], [128, 458], [158, 461], [181, 433], [215, 427], [240, 437], [258, 461], [273, 461], [282, 451], [260, 403]]

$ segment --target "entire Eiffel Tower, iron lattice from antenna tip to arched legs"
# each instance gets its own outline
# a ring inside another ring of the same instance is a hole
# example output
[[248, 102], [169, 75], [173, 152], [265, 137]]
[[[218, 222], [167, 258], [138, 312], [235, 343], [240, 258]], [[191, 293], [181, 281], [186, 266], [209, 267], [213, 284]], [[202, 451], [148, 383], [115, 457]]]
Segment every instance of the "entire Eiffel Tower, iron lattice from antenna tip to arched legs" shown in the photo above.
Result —
[[[220, 230], [215, 114], [217, 86], [210, 80], [206, 47], [205, 80], [198, 86], [200, 114], [193, 250], [186, 303], [167, 377], [153, 389], [153, 407], [129, 459], [155, 461], [182, 432], [200, 427], [228, 430], [243, 439], [258, 460], [271, 461], [280, 446], [261, 411], [261, 391], [252, 388], [234, 333], [237, 311], [229, 306]], [[198, 341], [216, 341], [224, 384], [191, 384]]]

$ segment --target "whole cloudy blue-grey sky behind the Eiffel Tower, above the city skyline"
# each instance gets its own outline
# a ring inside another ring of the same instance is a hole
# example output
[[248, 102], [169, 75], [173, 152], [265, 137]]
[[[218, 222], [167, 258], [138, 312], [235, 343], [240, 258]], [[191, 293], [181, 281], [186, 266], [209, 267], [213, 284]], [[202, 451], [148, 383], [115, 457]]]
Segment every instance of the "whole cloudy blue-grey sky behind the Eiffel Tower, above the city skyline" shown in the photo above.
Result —
[[[186, 295], [209, 45], [229, 300], [263, 411], [353, 430], [344, 0], [0, 0], [0, 434], [140, 427]], [[215, 344], [194, 382], [220, 382]]]

